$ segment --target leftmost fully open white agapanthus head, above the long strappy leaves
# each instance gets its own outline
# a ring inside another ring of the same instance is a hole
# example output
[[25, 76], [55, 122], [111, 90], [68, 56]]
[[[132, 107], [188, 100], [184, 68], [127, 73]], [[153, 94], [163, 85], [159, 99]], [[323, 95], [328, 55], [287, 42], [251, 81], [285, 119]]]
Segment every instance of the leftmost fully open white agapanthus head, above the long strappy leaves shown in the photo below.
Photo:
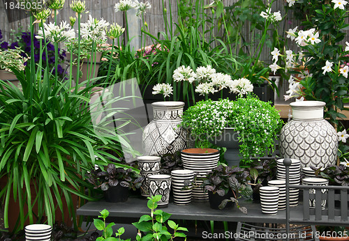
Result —
[[[61, 22], [60, 25], [55, 25], [53, 22], [50, 24], [44, 23], [45, 38], [50, 42], [64, 42], [75, 38], [74, 29], [70, 28], [70, 25], [65, 21]], [[43, 38], [43, 30], [38, 31], [36, 38]]]

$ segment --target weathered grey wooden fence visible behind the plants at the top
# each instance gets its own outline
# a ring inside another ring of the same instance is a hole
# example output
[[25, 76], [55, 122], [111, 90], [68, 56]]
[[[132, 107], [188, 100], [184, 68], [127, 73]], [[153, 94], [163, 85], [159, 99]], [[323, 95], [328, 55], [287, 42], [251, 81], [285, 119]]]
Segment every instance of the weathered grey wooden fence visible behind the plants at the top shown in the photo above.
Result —
[[[13, 29], [14, 31], [19, 31], [21, 28], [26, 31], [29, 29], [29, 17], [26, 17], [22, 20], [17, 20], [14, 22], [9, 22], [8, 17], [6, 15], [5, 4], [6, 1], [15, 1], [15, 0], [0, 0], [0, 29], [3, 34], [4, 40], [10, 40], [10, 31]], [[61, 22], [69, 21], [70, 16], [74, 16], [75, 13], [70, 9], [70, 3], [72, 0], [66, 0], [64, 8], [59, 10], [59, 15], [57, 16], [57, 21]], [[180, 1], [180, 0], [179, 0]], [[235, 3], [237, 0], [223, 0], [224, 6], [231, 6], [232, 3]], [[115, 13], [114, 5], [118, 0], [89, 0], [86, 1], [87, 10], [89, 13], [82, 15], [82, 22], [87, 21], [89, 14], [92, 17], [100, 18], [103, 17], [106, 21], [113, 23], [117, 22], [121, 26], [125, 26], [125, 17], [121, 12]], [[207, 0], [206, 3], [209, 4], [211, 0]], [[177, 0], [149, 0], [151, 3], [151, 9], [147, 10], [147, 14], [145, 15], [145, 21], [148, 24], [149, 32], [154, 36], [157, 36], [157, 33], [160, 31], [165, 31], [165, 20], [163, 17], [163, 7], [167, 9], [167, 18], [168, 22], [170, 22], [170, 14], [172, 13], [172, 26], [175, 29], [174, 23], [178, 22], [178, 9], [177, 9]], [[285, 15], [285, 1], [276, 1], [273, 4], [274, 10], [281, 10], [281, 15]], [[163, 6], [164, 5], [164, 6]], [[171, 10], [171, 11], [170, 11]], [[15, 13], [15, 17], [20, 14], [20, 11], [17, 10], [18, 13]], [[52, 17], [47, 20], [47, 22], [52, 21]], [[290, 24], [292, 22], [292, 24]], [[36, 24], [37, 25], [37, 24]], [[140, 18], [135, 16], [135, 10], [128, 11], [128, 25], [130, 29], [130, 37], [131, 36], [140, 36], [140, 28], [142, 26]], [[297, 24], [294, 21], [286, 20], [285, 25], [279, 24], [278, 31], [279, 34], [284, 33], [285, 30], [290, 29], [291, 27], [295, 27]], [[246, 40], [249, 40], [252, 36], [249, 34], [249, 29], [244, 29], [244, 37]], [[224, 36], [225, 33], [223, 31], [216, 32], [214, 34], [218, 34]], [[256, 32], [255, 34], [259, 34]], [[147, 45], [150, 45], [151, 41], [147, 38]], [[132, 46], [135, 49], [140, 48], [140, 38], [134, 38], [132, 40]], [[251, 50], [254, 50], [254, 47], [251, 47]], [[272, 50], [269, 47], [263, 47], [263, 52], [261, 55], [262, 61], [271, 62], [270, 52]]]

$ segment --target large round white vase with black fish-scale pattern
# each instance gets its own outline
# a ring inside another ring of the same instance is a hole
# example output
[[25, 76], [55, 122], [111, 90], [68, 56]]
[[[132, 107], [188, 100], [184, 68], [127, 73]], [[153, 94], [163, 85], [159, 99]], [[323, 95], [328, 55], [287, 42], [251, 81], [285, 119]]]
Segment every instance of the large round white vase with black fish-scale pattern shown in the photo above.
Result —
[[336, 130], [324, 120], [325, 102], [292, 102], [292, 120], [280, 134], [281, 155], [301, 160], [304, 166], [335, 164], [338, 139]]

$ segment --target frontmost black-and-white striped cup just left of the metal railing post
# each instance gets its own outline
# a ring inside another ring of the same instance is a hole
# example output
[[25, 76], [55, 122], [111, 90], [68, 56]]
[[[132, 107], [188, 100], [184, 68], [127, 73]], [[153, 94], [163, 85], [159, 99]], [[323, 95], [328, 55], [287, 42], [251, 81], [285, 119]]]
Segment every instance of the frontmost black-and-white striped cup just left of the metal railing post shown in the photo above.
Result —
[[279, 187], [260, 187], [260, 205], [263, 213], [276, 215], [279, 206]]

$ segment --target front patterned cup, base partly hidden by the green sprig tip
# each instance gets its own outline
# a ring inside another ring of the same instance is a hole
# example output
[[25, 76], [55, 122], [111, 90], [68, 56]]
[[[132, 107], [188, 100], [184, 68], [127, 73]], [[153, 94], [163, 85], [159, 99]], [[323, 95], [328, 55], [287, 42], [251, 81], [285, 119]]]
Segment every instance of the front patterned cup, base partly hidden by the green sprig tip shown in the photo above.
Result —
[[167, 208], [168, 201], [170, 201], [171, 176], [156, 174], [148, 176], [147, 179], [149, 181], [149, 196], [161, 195], [158, 208]]

